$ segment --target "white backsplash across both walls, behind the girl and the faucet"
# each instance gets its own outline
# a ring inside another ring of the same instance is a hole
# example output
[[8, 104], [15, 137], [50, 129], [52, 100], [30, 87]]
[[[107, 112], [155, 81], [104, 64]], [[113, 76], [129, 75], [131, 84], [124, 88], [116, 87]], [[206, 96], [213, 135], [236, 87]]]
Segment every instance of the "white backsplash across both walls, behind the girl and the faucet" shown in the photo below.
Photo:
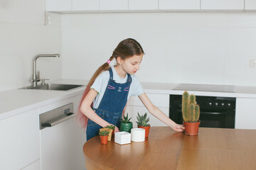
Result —
[[48, 13], [46, 25], [0, 21], [0, 91], [45, 79], [90, 79], [125, 38], [138, 40], [144, 82], [256, 86], [256, 13]]

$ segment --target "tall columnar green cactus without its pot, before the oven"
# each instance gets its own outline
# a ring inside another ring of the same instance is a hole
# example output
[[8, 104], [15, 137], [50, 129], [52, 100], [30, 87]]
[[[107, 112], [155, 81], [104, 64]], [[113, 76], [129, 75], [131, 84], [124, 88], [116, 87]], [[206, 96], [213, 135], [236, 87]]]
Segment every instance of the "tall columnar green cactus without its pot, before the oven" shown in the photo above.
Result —
[[200, 107], [196, 104], [196, 96], [189, 96], [187, 91], [184, 91], [182, 96], [182, 116], [184, 122], [197, 122], [200, 116]]

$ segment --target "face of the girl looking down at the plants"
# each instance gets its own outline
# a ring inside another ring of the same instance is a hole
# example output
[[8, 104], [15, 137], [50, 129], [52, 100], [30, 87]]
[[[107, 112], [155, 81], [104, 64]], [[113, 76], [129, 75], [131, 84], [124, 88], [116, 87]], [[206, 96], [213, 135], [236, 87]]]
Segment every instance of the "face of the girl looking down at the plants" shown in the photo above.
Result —
[[134, 55], [132, 57], [129, 57], [125, 60], [122, 60], [119, 58], [119, 64], [122, 66], [122, 69], [124, 72], [127, 72], [128, 74], [134, 74], [139, 70], [139, 65], [142, 62], [143, 54], [142, 55]]

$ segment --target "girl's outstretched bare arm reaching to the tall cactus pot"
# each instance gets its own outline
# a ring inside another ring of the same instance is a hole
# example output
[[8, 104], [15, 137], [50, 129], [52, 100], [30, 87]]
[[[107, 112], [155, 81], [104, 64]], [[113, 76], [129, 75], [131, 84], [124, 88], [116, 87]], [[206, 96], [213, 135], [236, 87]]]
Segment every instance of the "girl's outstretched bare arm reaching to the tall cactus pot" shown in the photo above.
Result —
[[142, 101], [144, 106], [146, 106], [146, 109], [149, 111], [149, 113], [154, 115], [156, 118], [161, 120], [166, 125], [169, 125], [169, 127], [171, 127], [172, 129], [174, 129], [178, 132], [183, 132], [183, 130], [184, 130], [183, 125], [176, 124], [167, 115], [165, 115], [159, 108], [154, 106], [154, 104], [151, 103], [151, 101], [149, 100], [148, 96], [146, 96], [146, 94], [141, 94], [139, 96], [139, 99]]

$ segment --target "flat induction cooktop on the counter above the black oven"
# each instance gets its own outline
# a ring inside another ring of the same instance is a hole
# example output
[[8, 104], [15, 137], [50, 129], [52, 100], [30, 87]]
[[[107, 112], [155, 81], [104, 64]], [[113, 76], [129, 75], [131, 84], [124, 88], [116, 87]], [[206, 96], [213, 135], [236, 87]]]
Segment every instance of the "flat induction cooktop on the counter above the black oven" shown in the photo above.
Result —
[[210, 85], [210, 84], [179, 84], [173, 90], [214, 91], [214, 92], [235, 93], [235, 86]]

